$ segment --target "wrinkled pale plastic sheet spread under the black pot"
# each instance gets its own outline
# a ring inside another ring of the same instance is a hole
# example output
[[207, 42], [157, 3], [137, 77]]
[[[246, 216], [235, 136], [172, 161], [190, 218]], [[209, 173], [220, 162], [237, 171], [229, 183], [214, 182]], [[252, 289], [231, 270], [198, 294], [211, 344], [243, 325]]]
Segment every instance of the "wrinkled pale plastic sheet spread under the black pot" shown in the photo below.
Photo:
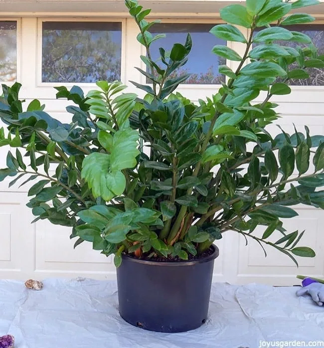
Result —
[[43, 283], [33, 291], [0, 280], [0, 336], [13, 335], [16, 348], [257, 348], [260, 341], [324, 340], [324, 308], [296, 297], [296, 287], [215, 283], [201, 328], [163, 334], [119, 316], [116, 282]]

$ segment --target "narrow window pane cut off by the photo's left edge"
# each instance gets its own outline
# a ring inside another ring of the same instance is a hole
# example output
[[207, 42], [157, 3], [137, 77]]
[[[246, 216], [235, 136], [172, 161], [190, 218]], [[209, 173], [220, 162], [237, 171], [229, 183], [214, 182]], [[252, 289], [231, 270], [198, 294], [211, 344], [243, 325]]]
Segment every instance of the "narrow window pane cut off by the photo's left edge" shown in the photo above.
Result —
[[17, 22], [0, 21], [0, 81], [17, 77]]

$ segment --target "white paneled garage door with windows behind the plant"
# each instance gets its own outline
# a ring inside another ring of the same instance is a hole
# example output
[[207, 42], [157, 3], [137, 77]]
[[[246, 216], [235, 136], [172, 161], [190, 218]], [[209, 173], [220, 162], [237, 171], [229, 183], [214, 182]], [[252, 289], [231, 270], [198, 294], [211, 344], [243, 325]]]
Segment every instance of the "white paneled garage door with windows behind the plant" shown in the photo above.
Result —
[[[223, 79], [217, 73], [216, 56], [209, 53], [217, 40], [206, 33], [217, 20], [179, 17], [182, 19], [163, 20], [156, 32], [167, 32], [168, 38], [163, 39], [166, 46], [183, 40], [187, 31], [193, 33], [193, 52], [187, 67], [193, 75], [188, 84], [180, 86], [179, 92], [197, 101], [214, 93]], [[297, 29], [308, 30], [324, 53], [324, 25]], [[129, 18], [100, 18], [98, 14], [96, 18], [86, 19], [49, 14], [46, 17], [0, 17], [0, 80], [21, 82], [20, 98], [26, 99], [26, 105], [34, 98], [40, 99], [46, 104], [45, 111], [67, 121], [69, 114], [65, 107], [69, 103], [55, 100], [53, 86], [78, 84], [87, 92], [102, 76], [146, 83], [134, 69], [134, 66], [144, 68], [139, 59], [144, 52], [136, 41], [137, 32]], [[232, 48], [238, 52], [244, 49], [239, 43]], [[294, 123], [301, 131], [307, 124], [313, 134], [324, 134], [323, 86], [324, 72], [318, 71], [307, 85], [301, 86], [296, 81], [290, 96], [273, 98], [282, 114], [277, 123], [287, 132], [292, 132]], [[274, 126], [271, 132], [278, 133], [278, 129]], [[6, 151], [0, 148], [0, 168], [5, 167]], [[73, 250], [69, 228], [45, 221], [31, 225], [33, 216], [25, 207], [28, 187], [8, 188], [8, 181], [0, 182], [0, 278], [115, 277], [111, 259], [93, 251], [90, 243]], [[245, 246], [243, 238], [228, 232], [218, 243], [220, 256], [215, 262], [214, 280], [284, 285], [298, 283], [296, 274], [324, 276], [324, 212], [310, 207], [300, 207], [297, 211], [299, 216], [285, 221], [285, 227], [290, 231], [307, 229], [304, 244], [316, 250], [316, 258], [299, 259], [297, 270], [292, 261], [279, 252], [269, 250], [265, 258], [256, 243], [252, 241]]]

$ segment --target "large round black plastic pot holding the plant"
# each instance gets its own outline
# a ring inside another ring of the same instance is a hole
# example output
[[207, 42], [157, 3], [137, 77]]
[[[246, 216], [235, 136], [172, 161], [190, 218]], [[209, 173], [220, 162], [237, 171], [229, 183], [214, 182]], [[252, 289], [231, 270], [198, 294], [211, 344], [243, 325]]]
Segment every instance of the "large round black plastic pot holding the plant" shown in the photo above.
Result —
[[145, 330], [174, 333], [199, 328], [207, 319], [214, 259], [158, 262], [123, 255], [117, 268], [119, 313]]

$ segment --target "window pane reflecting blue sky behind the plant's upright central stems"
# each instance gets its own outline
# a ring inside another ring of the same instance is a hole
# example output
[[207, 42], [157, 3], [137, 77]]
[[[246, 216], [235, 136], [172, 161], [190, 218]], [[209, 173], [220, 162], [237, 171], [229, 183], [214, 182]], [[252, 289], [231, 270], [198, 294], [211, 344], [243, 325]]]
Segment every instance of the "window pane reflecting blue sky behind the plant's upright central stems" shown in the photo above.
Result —
[[[220, 84], [225, 81], [224, 75], [218, 73], [218, 66], [225, 64], [225, 58], [212, 53], [215, 45], [226, 45], [226, 41], [216, 38], [209, 30], [214, 24], [190, 24], [190, 23], [157, 23], [150, 28], [155, 35], [165, 33], [166, 37], [154, 41], [151, 44], [152, 58], [159, 65], [159, 47], [169, 52], [174, 43], [184, 44], [187, 33], [192, 39], [192, 49], [188, 55], [188, 62], [177, 69], [172, 77], [183, 74], [191, 74], [184, 82], [186, 84]], [[160, 64], [161, 63], [161, 64]], [[150, 81], [148, 81], [150, 82]]]

